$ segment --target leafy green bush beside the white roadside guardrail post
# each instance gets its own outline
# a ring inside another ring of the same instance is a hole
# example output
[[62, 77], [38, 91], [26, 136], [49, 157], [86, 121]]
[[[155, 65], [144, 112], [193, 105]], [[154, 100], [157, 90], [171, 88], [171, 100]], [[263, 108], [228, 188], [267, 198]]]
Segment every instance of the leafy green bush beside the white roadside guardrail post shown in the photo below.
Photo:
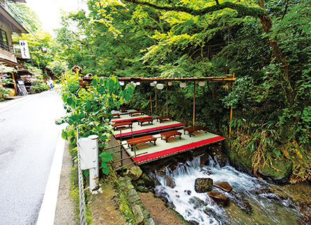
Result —
[[[62, 137], [74, 142], [77, 127], [80, 137], [99, 136], [99, 148], [103, 150], [112, 134], [111, 110], [120, 108], [122, 103], [132, 98], [134, 85], [129, 84], [122, 89], [117, 77], [94, 77], [92, 84], [82, 89], [79, 86], [79, 79], [78, 74], [68, 73], [61, 79], [61, 96], [68, 113], [58, 122], [68, 123], [68, 127], [63, 130]], [[113, 158], [110, 153], [104, 151], [99, 156], [102, 171], [108, 174], [109, 168], [106, 162]]]

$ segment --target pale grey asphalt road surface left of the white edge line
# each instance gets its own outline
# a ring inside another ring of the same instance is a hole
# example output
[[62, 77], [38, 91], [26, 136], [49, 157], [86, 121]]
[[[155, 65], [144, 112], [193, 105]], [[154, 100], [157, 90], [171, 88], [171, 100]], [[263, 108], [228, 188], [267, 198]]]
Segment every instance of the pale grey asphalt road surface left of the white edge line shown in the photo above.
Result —
[[55, 91], [0, 103], [0, 224], [36, 224], [65, 114]]

